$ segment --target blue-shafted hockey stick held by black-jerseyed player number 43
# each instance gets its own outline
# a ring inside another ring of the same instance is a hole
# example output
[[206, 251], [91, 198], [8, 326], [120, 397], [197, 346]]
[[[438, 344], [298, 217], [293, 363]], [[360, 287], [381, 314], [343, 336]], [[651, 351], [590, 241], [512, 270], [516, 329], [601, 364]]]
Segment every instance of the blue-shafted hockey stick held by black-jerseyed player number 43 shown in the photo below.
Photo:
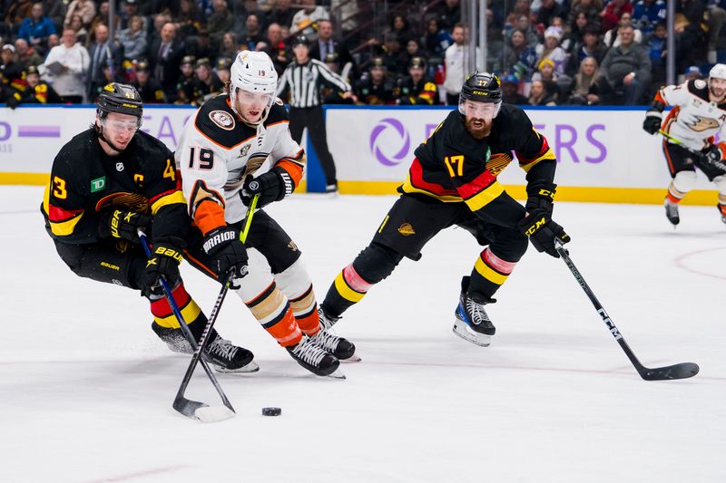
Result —
[[[138, 233], [139, 239], [141, 239], [142, 241], [143, 251], [146, 253], [147, 257], [151, 258], [152, 252], [149, 247], [149, 240], [146, 237], [146, 234], [143, 233], [141, 228], [139, 228]], [[179, 305], [177, 305], [176, 301], [174, 300], [174, 296], [172, 295], [172, 289], [167, 283], [166, 278], [164, 278], [163, 276], [160, 277], [159, 281], [162, 285], [164, 296], [166, 296], [166, 300], [169, 302], [169, 306], [172, 307], [172, 311], [176, 316], [179, 327], [182, 329], [184, 338], [191, 345], [191, 350], [196, 351], [197, 342], [194, 340], [194, 335], [191, 333], [189, 327], [184, 321], [184, 316], [182, 315], [182, 311], [179, 309]], [[188, 403], [184, 404], [181, 407], [181, 409], [184, 411], [181, 411], [180, 408], [178, 408], [176, 405], [174, 406], [174, 409], [181, 412], [184, 416], [188, 418], [196, 418], [204, 422], [214, 422], [233, 418], [235, 415], [234, 408], [232, 407], [230, 400], [227, 399], [226, 394], [224, 394], [224, 391], [221, 390], [220, 383], [217, 381], [217, 378], [214, 377], [214, 373], [211, 372], [210, 366], [207, 364], [206, 361], [204, 361], [204, 359], [202, 359], [200, 363], [201, 367], [204, 369], [204, 372], [206, 372], [209, 376], [211, 384], [214, 386], [214, 389], [217, 390], [217, 393], [220, 395], [221, 401], [224, 406], [226, 406], [226, 409], [220, 406], [212, 407], [209, 404], [191, 400], [186, 400]]]

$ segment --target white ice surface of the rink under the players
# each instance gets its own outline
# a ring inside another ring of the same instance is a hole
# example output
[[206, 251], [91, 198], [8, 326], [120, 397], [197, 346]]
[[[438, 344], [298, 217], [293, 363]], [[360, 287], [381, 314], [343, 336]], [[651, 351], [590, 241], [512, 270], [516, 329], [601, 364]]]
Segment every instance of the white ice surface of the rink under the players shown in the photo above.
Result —
[[[0, 188], [0, 481], [726, 481], [726, 227], [714, 207], [682, 207], [677, 230], [655, 206], [554, 213], [641, 361], [697, 362], [692, 379], [641, 380], [566, 266], [531, 247], [488, 307], [492, 345], [459, 339], [459, 280], [479, 249], [449, 229], [337, 325], [363, 358], [343, 365], [344, 382], [305, 372], [228, 297], [217, 327], [260, 372], [219, 374], [238, 415], [205, 425], [172, 410], [188, 356], [156, 339], [142, 297], [64, 266], [41, 196]], [[319, 300], [393, 199], [270, 207]], [[209, 313], [219, 287], [182, 274]], [[201, 370], [188, 395], [219, 401]]]

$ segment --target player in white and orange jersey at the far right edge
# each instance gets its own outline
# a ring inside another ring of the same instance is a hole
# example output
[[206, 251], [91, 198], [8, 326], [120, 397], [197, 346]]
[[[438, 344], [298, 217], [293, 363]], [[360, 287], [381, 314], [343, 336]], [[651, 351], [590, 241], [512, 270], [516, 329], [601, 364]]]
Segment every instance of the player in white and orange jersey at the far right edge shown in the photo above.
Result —
[[[665, 106], [673, 109], [662, 121]], [[696, 184], [696, 167], [719, 191], [719, 213], [726, 223], [726, 64], [717, 63], [707, 81], [696, 79], [681, 85], [662, 87], [646, 112], [643, 130], [663, 130], [663, 152], [671, 171], [671, 185], [665, 197], [665, 216], [673, 227], [681, 221], [678, 203]]]

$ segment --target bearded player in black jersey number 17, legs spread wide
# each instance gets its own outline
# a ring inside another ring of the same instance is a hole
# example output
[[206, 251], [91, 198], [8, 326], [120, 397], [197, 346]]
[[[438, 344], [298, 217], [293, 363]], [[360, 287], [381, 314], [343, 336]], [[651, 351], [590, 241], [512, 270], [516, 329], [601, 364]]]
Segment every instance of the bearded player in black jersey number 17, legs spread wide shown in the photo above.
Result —
[[[515, 151], [526, 171], [528, 198], [522, 207], [496, 176]], [[557, 256], [554, 239], [569, 241], [552, 220], [556, 162], [544, 137], [524, 111], [502, 104], [499, 80], [486, 72], [470, 74], [458, 109], [451, 111], [415, 151], [406, 182], [383, 218], [373, 240], [330, 285], [321, 304], [322, 321], [331, 326], [368, 289], [393, 272], [404, 256], [421, 257], [432, 237], [457, 225], [481, 246], [471, 275], [462, 280], [454, 332], [489, 345], [495, 326], [486, 314], [496, 290], [525, 254], [527, 237], [540, 252]]]

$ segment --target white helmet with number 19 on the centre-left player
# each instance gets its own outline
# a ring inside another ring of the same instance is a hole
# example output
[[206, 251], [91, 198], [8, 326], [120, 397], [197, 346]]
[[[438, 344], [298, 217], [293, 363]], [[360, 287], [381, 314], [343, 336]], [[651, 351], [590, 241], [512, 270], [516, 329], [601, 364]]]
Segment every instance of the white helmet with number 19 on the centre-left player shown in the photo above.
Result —
[[[270, 94], [267, 108], [262, 113], [260, 122], [267, 119], [272, 103], [275, 101], [275, 92], [278, 86], [278, 72], [272, 64], [270, 55], [264, 52], [243, 51], [237, 54], [230, 69], [230, 103], [232, 110], [237, 112], [235, 101], [237, 90], [246, 92]], [[240, 115], [240, 112], [237, 112]]]

